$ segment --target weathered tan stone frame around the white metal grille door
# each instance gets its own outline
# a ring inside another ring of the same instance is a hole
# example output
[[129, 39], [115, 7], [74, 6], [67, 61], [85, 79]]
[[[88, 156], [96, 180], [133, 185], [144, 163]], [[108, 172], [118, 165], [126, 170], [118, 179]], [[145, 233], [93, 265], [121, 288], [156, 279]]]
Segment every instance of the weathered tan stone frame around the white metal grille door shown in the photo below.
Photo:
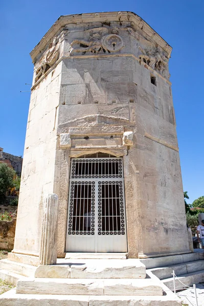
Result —
[[[94, 149], [81, 149], [76, 150], [73, 148], [69, 149], [58, 149], [56, 151], [56, 175], [55, 175], [55, 186], [54, 192], [59, 195], [58, 202], [58, 235], [57, 235], [57, 256], [58, 258], [64, 258], [65, 256], [65, 242], [66, 242], [66, 226], [67, 226], [67, 210], [68, 210], [68, 193], [69, 193], [69, 179], [71, 169], [71, 158], [84, 156], [85, 154], [95, 154], [97, 152], [103, 152], [110, 154], [115, 157], [123, 158], [124, 166], [124, 189], [125, 189], [125, 207], [126, 207], [126, 224], [127, 224], [127, 257], [138, 258], [139, 248], [138, 241], [135, 237], [139, 234], [138, 220], [135, 220], [134, 205], [137, 205], [135, 201], [135, 190], [136, 188], [134, 181], [132, 181], [132, 171], [130, 166], [130, 159], [128, 155], [127, 146], [120, 148], [114, 148], [113, 150], [107, 148], [94, 148]], [[131, 186], [130, 186], [131, 185]], [[131, 211], [132, 209], [132, 211]], [[137, 222], [135, 222], [137, 221]]]

